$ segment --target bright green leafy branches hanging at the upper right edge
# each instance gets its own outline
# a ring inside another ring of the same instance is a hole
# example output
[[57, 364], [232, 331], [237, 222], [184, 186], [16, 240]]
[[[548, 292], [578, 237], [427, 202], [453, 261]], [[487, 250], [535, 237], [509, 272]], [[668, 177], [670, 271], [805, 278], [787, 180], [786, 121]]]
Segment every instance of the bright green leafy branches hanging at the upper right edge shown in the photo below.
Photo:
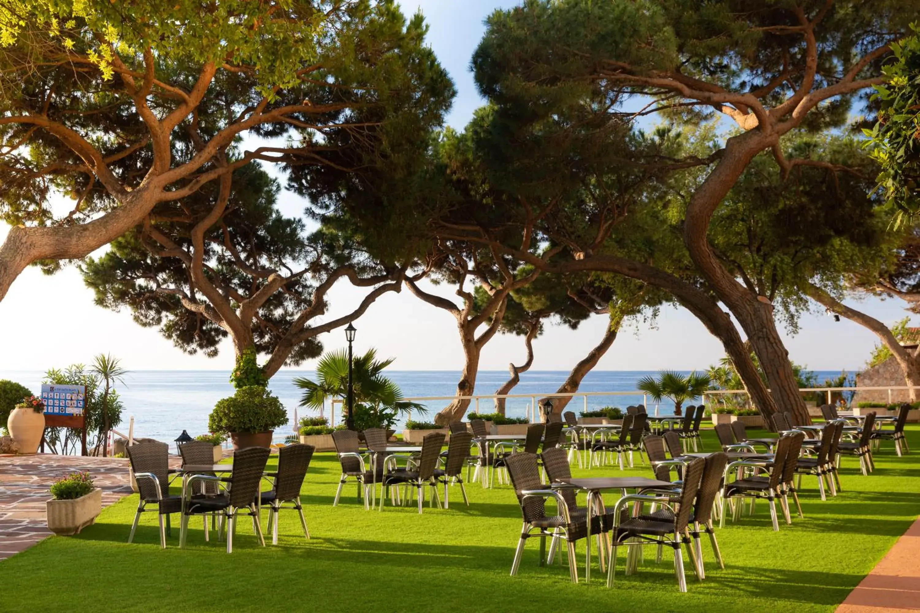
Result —
[[920, 36], [889, 46], [894, 59], [882, 68], [888, 81], [872, 96], [880, 103], [879, 120], [864, 132], [881, 166], [878, 187], [902, 223], [920, 213]]

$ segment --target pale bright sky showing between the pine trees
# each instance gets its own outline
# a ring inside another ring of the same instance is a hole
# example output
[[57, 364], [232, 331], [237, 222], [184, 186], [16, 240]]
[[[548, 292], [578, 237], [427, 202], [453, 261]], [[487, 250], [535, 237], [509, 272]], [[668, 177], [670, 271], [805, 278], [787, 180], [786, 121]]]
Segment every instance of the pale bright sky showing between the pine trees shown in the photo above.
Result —
[[[462, 129], [482, 104], [478, 97], [469, 59], [483, 33], [483, 19], [495, 8], [516, 2], [464, 0], [404, 2], [404, 11], [421, 10], [431, 26], [428, 40], [443, 66], [454, 79], [458, 95], [448, 123]], [[281, 197], [286, 214], [298, 214], [304, 203], [290, 193]], [[0, 222], [0, 240], [6, 237]], [[446, 298], [449, 290], [427, 286]], [[361, 301], [364, 290], [339, 284], [329, 293], [328, 318], [349, 312]], [[906, 312], [899, 301], [849, 301], [886, 324], [902, 319]], [[548, 327], [534, 344], [534, 370], [568, 370], [583, 358], [604, 334], [604, 316], [594, 316], [578, 330]], [[6, 298], [0, 301], [0, 379], [5, 372], [63, 368], [91, 362], [99, 353], [121, 358], [127, 369], [230, 369], [233, 349], [227, 341], [217, 358], [189, 356], [163, 338], [155, 328], [142, 328], [127, 310], [111, 312], [93, 304], [92, 292], [73, 267], [52, 277], [38, 269], [24, 272]], [[403, 289], [388, 293], [356, 323], [355, 349], [374, 346], [381, 355], [396, 358], [392, 368], [400, 370], [460, 369], [463, 352], [454, 318]], [[835, 323], [823, 314], [805, 315], [799, 334], [784, 334], [790, 358], [811, 369], [859, 369], [876, 343], [875, 335], [846, 320]], [[322, 335], [327, 348], [345, 345], [341, 330]], [[705, 369], [724, 355], [719, 341], [693, 315], [683, 309], [666, 308], [654, 327], [633, 324], [623, 330], [596, 369], [654, 370]], [[521, 363], [523, 339], [497, 335], [486, 345], [480, 369], [507, 369], [509, 362]], [[301, 368], [312, 369], [313, 362]]]

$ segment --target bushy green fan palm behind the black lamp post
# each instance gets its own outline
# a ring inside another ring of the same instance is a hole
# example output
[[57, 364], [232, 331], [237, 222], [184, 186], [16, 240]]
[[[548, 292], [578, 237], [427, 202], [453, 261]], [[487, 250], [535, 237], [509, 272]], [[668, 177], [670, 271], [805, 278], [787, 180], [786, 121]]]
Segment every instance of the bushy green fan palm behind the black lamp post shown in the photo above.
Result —
[[[383, 370], [394, 361], [395, 358], [378, 360], [374, 348], [353, 360], [355, 408], [368, 410], [372, 422], [381, 427], [392, 425], [398, 414], [427, 411], [421, 404], [404, 400], [396, 382], [384, 376]], [[300, 406], [319, 409], [330, 398], [344, 400], [348, 394], [348, 351], [339, 349], [323, 354], [316, 363], [316, 381], [297, 377], [293, 384], [305, 391]]]

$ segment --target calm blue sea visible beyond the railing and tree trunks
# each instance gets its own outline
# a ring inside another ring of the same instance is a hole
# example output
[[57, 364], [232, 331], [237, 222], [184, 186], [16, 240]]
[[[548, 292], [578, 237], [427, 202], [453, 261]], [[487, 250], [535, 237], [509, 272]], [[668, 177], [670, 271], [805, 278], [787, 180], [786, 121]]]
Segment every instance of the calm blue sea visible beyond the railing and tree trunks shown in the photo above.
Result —
[[[686, 374], [689, 371], [684, 371]], [[815, 370], [819, 381], [830, 379], [840, 374], [839, 370]], [[431, 396], [453, 396], [460, 371], [452, 370], [387, 370], [385, 374], [396, 381], [407, 398], [424, 398]], [[642, 377], [658, 374], [651, 370], [592, 370], [581, 381], [579, 392], [607, 392], [606, 394], [588, 396], [589, 410], [604, 406], [624, 408], [630, 404], [644, 403], [650, 414], [673, 414], [673, 403], [656, 404], [636, 392], [637, 381]], [[293, 385], [296, 377], [312, 379], [312, 370], [282, 369], [269, 383], [271, 392], [281, 399], [287, 408], [289, 423], [275, 431], [275, 439], [282, 442], [293, 434], [295, 415], [304, 417], [317, 415], [318, 412], [299, 406], [302, 391]], [[521, 382], [512, 390], [512, 394], [525, 394], [524, 398], [509, 398], [506, 414], [509, 417], [524, 417], [528, 414], [533, 399], [558, 390], [569, 372], [567, 370], [537, 370], [525, 372]], [[44, 373], [39, 370], [0, 370], [0, 379], [14, 380], [25, 385], [38, 394]], [[208, 431], [208, 414], [214, 403], [221, 398], [233, 395], [228, 370], [134, 370], [124, 377], [124, 383], [116, 386], [124, 405], [121, 424], [115, 429], [127, 434], [130, 418], [134, 418], [134, 437], [149, 437], [171, 442], [183, 430], [190, 436], [204, 434]], [[480, 370], [476, 381], [475, 394], [494, 394], [500, 385], [508, 380], [506, 370]], [[427, 414], [414, 413], [411, 418], [417, 421], [431, 421], [446, 400], [423, 400], [420, 404], [428, 407]], [[494, 412], [494, 401], [482, 399], [478, 403], [482, 413]], [[474, 410], [477, 403], [470, 404]], [[576, 413], [584, 410], [585, 401], [576, 397], [569, 403], [567, 410]], [[327, 404], [324, 416], [331, 417], [339, 423], [340, 405], [331, 411]], [[330, 414], [331, 412], [331, 414]], [[405, 423], [404, 418], [397, 422], [397, 430]]]

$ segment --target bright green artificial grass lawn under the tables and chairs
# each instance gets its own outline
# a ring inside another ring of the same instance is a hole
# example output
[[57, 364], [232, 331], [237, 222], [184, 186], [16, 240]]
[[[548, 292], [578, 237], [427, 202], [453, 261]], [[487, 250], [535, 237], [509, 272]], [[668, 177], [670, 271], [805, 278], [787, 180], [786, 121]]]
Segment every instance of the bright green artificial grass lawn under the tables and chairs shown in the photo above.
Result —
[[[907, 436], [914, 453], [898, 458], [891, 443], [884, 444], [868, 477], [859, 474], [855, 458], [845, 457], [843, 492], [827, 502], [815, 479], [805, 477], [799, 494], [805, 518], [793, 515], [792, 526], [780, 520], [774, 532], [765, 503], [737, 524], [727, 520], [717, 528], [725, 570], [704, 539], [707, 578], [696, 581], [684, 562], [686, 594], [677, 591], [670, 556], [656, 564], [653, 550], [631, 576], [621, 551], [615, 586], [607, 589], [596, 551], [592, 583], [585, 585], [579, 548], [581, 583], [572, 585], [564, 562], [537, 565], [533, 539], [518, 576], [509, 576], [521, 526], [510, 486], [468, 484], [468, 507], [454, 486], [449, 510], [426, 503], [421, 516], [415, 506], [364, 511], [351, 486], [334, 508], [339, 464], [333, 454], [318, 453], [304, 485], [309, 542], [296, 514], [282, 512], [277, 546], [269, 538], [266, 548], [259, 547], [241, 520], [228, 555], [223, 542], [204, 541], [195, 520], [188, 548], [178, 549], [174, 528], [164, 551], [150, 513], [129, 545], [135, 494], [104, 510], [81, 534], [45, 539], [0, 562], [0, 611], [829, 611], [920, 513], [920, 427], [909, 425]], [[707, 449], [717, 448], [711, 430], [704, 440]], [[651, 476], [640, 463], [623, 473], [577, 465], [574, 472]]]

